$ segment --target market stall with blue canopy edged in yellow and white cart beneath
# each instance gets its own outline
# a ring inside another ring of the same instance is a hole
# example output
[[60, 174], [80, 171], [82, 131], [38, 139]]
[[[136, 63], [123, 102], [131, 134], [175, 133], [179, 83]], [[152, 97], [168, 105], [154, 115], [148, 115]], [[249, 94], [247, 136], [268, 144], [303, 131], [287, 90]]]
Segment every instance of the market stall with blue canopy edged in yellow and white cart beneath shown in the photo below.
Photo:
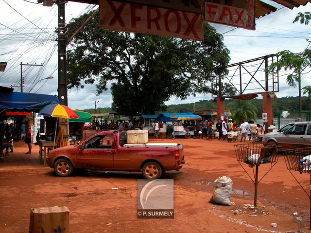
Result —
[[176, 136], [185, 136], [185, 138], [190, 138], [195, 134], [196, 121], [202, 120], [202, 118], [198, 115], [184, 113], [174, 114], [171, 116], [171, 119], [177, 121], [177, 124], [174, 124], [173, 126], [173, 133], [171, 136], [173, 139]]

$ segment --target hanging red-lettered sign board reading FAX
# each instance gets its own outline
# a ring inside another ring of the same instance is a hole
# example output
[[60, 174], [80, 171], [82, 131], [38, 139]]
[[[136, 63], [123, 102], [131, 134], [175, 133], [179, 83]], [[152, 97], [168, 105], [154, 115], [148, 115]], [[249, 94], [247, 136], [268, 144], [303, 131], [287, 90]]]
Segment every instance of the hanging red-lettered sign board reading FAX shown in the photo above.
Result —
[[205, 0], [204, 20], [255, 30], [255, 0]]

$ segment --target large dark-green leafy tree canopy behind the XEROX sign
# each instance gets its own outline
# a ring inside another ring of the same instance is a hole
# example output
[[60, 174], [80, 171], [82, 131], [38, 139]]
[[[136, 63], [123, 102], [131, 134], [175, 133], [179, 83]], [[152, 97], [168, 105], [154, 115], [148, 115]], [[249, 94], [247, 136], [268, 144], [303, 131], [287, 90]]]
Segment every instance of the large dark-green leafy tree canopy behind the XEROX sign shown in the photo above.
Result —
[[[72, 19], [68, 35], [91, 14]], [[111, 84], [112, 107], [128, 115], [161, 111], [173, 96], [211, 92], [212, 71], [229, 62], [223, 36], [207, 23], [200, 42], [102, 30], [96, 14], [68, 48], [68, 87], [96, 83], [101, 94]]]

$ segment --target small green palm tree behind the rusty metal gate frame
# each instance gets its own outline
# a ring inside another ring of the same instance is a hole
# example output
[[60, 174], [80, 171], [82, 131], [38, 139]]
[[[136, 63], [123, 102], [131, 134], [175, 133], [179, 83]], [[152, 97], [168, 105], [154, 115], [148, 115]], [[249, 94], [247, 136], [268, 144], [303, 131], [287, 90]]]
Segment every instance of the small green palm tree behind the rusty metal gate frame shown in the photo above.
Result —
[[250, 119], [257, 120], [257, 109], [248, 100], [234, 100], [230, 106], [230, 110], [232, 112], [232, 119], [239, 125]]

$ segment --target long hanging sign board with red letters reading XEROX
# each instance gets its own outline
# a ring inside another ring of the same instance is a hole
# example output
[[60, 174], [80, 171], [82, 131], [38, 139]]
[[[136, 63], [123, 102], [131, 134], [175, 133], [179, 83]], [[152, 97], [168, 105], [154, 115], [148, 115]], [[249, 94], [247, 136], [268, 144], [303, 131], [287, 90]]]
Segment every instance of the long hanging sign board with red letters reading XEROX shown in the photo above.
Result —
[[203, 40], [203, 15], [161, 7], [100, 0], [100, 28]]

